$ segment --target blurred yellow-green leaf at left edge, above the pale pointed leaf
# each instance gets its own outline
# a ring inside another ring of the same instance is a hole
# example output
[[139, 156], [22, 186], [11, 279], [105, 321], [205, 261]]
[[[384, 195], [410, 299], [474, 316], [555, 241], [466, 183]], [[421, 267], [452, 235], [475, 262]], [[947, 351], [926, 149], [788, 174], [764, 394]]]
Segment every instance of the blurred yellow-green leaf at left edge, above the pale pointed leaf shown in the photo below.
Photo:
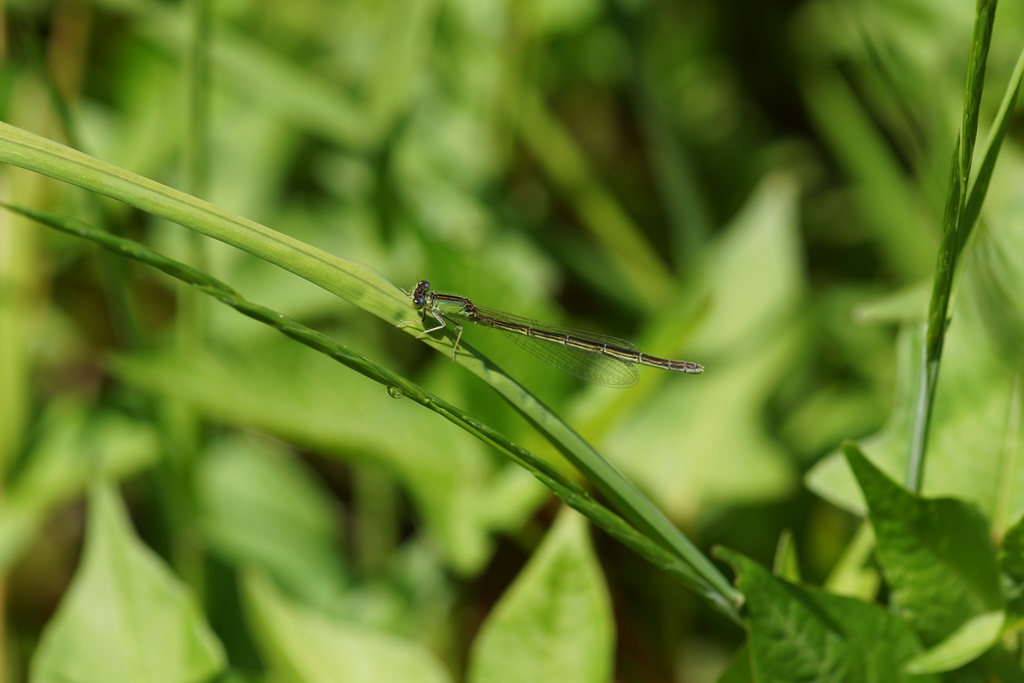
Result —
[[0, 567], [19, 557], [50, 510], [80, 496], [97, 473], [117, 479], [157, 458], [148, 426], [113, 413], [90, 413], [76, 400], [51, 402], [39, 432], [0, 499]]

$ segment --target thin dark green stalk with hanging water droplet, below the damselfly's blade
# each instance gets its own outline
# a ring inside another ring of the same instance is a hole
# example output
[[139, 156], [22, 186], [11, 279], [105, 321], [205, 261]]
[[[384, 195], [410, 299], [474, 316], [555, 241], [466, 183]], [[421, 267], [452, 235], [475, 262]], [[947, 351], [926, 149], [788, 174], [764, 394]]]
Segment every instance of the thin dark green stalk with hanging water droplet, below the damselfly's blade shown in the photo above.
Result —
[[29, 216], [49, 227], [91, 240], [117, 254], [135, 259], [182, 282], [188, 283], [197, 287], [201, 292], [231, 306], [243, 314], [268, 325], [291, 339], [319, 351], [357, 373], [383, 384], [388, 388], [392, 396], [396, 398], [409, 398], [437, 413], [446, 420], [466, 429], [482, 441], [498, 449], [513, 462], [538, 478], [544, 485], [551, 488], [566, 505], [580, 511], [609, 536], [633, 549], [654, 565], [672, 572], [689, 588], [708, 598], [714, 607], [731, 620], [739, 622], [738, 605], [742, 602], [742, 597], [734, 588], [729, 586], [730, 590], [725, 593], [718, 591], [717, 585], [709, 581], [709, 577], [700, 572], [699, 567], [694, 567], [692, 563], [686, 561], [686, 558], [681, 558], [678, 553], [666, 548], [659, 539], [647, 538], [647, 536], [642, 531], [638, 531], [628, 521], [598, 503], [579, 483], [566, 477], [551, 464], [512, 442], [501, 433], [475, 420], [461, 409], [452, 405], [439, 396], [425, 391], [419, 385], [370, 358], [348, 349], [327, 335], [311, 330], [274, 310], [243, 299], [234, 290], [215, 278], [183, 263], [168, 259], [138, 243], [116, 237], [103, 230], [97, 230], [81, 221], [71, 218], [54, 216], [20, 207], [4, 206], [11, 211]]

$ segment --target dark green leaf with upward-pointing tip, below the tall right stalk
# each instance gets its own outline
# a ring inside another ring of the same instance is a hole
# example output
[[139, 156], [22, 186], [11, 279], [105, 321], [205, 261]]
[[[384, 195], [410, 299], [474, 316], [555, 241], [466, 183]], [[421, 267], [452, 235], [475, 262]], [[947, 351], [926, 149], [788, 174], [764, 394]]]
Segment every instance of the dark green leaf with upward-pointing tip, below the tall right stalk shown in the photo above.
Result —
[[923, 499], [886, 477], [856, 445], [843, 447], [860, 482], [893, 602], [926, 643], [1002, 608], [995, 549], [973, 506]]

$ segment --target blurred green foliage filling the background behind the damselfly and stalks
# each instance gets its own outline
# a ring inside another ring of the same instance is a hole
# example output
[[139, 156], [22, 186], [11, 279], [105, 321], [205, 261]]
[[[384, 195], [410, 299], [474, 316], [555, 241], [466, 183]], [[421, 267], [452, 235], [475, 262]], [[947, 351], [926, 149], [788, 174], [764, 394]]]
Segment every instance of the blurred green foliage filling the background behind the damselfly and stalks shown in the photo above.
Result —
[[[698, 546], [742, 553], [729, 562], [744, 581], [781, 590], [743, 556], [771, 566], [790, 531], [795, 575], [841, 585], [837, 567], [865, 569], [844, 555], [860, 547], [848, 544], [865, 505], [839, 444], [862, 438], [902, 480], [970, 3], [200, 9], [211, 24], [196, 44], [195, 14], [175, 3], [8, 2], [2, 120], [171, 186], [205, 185], [203, 199], [400, 287], [429, 279], [703, 364], [697, 377], [641, 370], [638, 387], [614, 391], [466, 330]], [[995, 27], [982, 138], [1024, 10], [1004, 3]], [[197, 54], [205, 72], [185, 69]], [[194, 87], [205, 117], [187, 110]], [[1011, 119], [957, 273], [924, 485], [975, 504], [996, 537], [1024, 514], [1022, 161]], [[278, 264], [14, 167], [0, 168], [0, 194], [202, 267], [569, 469], [450, 356]], [[97, 584], [110, 572], [137, 589], [132, 609], [186, 625], [181, 657], [152, 649], [163, 632], [144, 620], [116, 625], [142, 634], [143, 661], [174, 657], [181, 673], [166, 680], [224, 666], [231, 680], [342, 680], [332, 672], [350, 666], [343, 680], [498, 681], [503, 647], [543, 651], [528, 637], [543, 622], [567, 649], [532, 663], [537, 676], [606, 680], [613, 661], [616, 680], [713, 681], [743, 638], [657, 567], [589, 539], [574, 513], [553, 525], [550, 492], [470, 434], [12, 214], [0, 217], [0, 471], [13, 681], [77, 666], [76, 620], [125, 596]], [[97, 476], [123, 483], [135, 529], [113, 488], [80, 505]], [[808, 595], [913, 651], [881, 610]], [[744, 658], [728, 680], [743, 680]]]

